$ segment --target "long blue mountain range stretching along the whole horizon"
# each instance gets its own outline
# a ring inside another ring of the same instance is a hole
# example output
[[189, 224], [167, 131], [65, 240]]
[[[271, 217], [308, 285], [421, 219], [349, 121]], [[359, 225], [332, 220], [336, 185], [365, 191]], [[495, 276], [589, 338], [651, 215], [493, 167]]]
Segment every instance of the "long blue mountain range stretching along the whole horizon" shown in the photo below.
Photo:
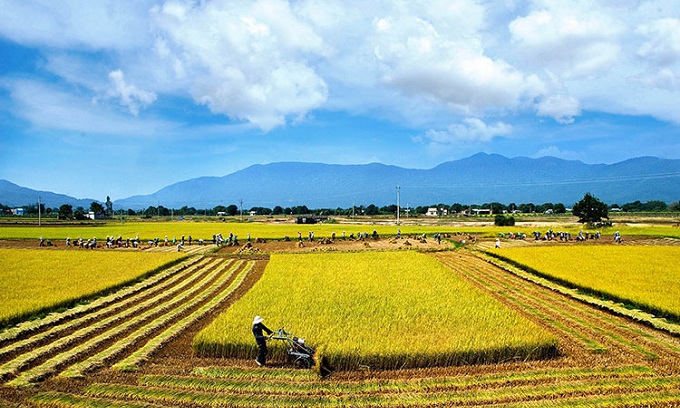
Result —
[[[431, 169], [384, 164], [337, 165], [279, 162], [257, 164], [223, 177], [199, 177], [148, 195], [114, 199], [114, 209], [162, 205], [198, 209], [218, 205], [243, 208], [280, 205], [348, 208], [396, 204], [402, 207], [444, 204], [546, 202], [571, 206], [590, 192], [609, 204], [680, 199], [680, 160], [639, 157], [615, 164], [586, 164], [555, 157], [507, 158], [497, 154], [442, 163]], [[72, 204], [89, 208], [92, 201], [38, 192], [0, 180], [0, 203], [35, 203], [48, 207]]]

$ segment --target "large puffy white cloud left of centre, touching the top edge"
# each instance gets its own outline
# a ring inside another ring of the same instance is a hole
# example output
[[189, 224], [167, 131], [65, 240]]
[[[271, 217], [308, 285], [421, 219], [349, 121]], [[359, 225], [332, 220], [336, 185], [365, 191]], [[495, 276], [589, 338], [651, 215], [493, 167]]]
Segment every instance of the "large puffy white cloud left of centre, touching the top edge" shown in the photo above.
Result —
[[270, 130], [327, 98], [307, 62], [324, 55], [324, 41], [288, 2], [168, 1], [152, 16], [157, 50], [214, 113]]

